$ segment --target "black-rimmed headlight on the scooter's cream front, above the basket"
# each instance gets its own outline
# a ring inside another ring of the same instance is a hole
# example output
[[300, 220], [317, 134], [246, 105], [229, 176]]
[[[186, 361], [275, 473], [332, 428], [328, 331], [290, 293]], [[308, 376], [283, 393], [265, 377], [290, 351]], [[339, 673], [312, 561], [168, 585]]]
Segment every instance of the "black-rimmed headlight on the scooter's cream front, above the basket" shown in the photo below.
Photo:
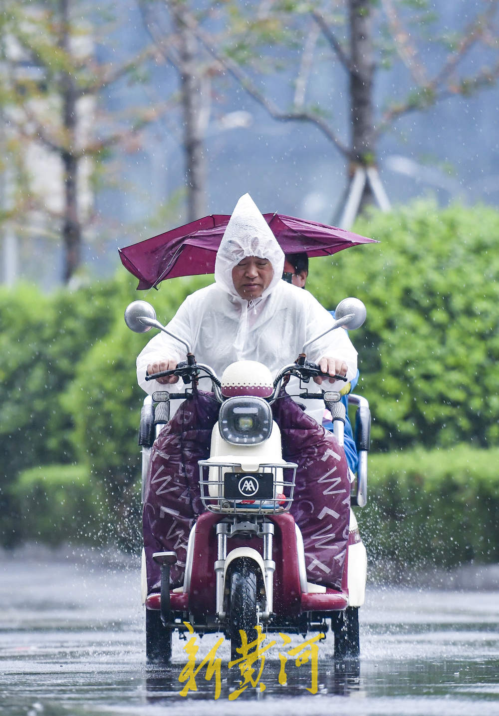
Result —
[[258, 445], [270, 437], [271, 407], [263, 398], [229, 398], [222, 403], [218, 427], [231, 445]]

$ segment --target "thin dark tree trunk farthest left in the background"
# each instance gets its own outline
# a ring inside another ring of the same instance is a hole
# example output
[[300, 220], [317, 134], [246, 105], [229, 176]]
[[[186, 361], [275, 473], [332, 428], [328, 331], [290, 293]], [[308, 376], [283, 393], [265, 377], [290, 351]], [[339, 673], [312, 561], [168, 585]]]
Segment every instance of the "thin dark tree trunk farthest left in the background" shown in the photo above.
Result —
[[[69, 2], [60, 0], [61, 34], [60, 46], [69, 54]], [[69, 72], [62, 69], [62, 124], [64, 149], [61, 153], [64, 175], [64, 209], [62, 239], [64, 242], [64, 283], [68, 283], [81, 262], [82, 228], [78, 218], [78, 160], [75, 155], [77, 129], [77, 88]]]

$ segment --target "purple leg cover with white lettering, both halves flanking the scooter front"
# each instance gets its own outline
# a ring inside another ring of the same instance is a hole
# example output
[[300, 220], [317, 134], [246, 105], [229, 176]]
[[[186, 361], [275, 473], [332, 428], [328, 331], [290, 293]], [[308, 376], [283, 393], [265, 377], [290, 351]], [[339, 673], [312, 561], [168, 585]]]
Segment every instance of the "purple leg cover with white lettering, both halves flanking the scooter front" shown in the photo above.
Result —
[[[183, 584], [190, 528], [203, 511], [198, 460], [208, 458], [218, 407], [213, 396], [198, 392], [183, 402], [152, 447], [142, 512], [148, 594], [160, 586], [153, 552], [175, 550], [171, 582]], [[291, 514], [304, 537], [307, 579], [339, 589], [350, 505], [344, 452], [291, 398], [279, 397], [272, 412], [281, 428], [283, 457], [299, 466]]]

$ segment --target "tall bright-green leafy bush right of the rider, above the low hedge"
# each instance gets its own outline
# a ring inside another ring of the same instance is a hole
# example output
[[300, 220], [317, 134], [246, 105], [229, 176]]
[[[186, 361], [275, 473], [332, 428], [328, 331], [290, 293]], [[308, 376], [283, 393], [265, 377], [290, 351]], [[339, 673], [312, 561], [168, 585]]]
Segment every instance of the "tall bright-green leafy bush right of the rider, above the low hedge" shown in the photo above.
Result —
[[367, 306], [352, 340], [374, 449], [499, 445], [498, 211], [420, 202], [355, 229], [382, 243], [313, 259], [307, 285]]

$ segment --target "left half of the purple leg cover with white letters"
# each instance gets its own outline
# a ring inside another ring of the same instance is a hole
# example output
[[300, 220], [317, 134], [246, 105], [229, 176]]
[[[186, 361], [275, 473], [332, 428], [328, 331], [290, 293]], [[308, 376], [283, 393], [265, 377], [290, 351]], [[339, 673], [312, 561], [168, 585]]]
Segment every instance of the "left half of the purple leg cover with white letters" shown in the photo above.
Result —
[[152, 445], [142, 508], [147, 594], [160, 588], [154, 552], [177, 553], [170, 579], [173, 587], [183, 584], [190, 528], [203, 512], [198, 460], [208, 458], [219, 407], [213, 395], [198, 391], [180, 405]]

